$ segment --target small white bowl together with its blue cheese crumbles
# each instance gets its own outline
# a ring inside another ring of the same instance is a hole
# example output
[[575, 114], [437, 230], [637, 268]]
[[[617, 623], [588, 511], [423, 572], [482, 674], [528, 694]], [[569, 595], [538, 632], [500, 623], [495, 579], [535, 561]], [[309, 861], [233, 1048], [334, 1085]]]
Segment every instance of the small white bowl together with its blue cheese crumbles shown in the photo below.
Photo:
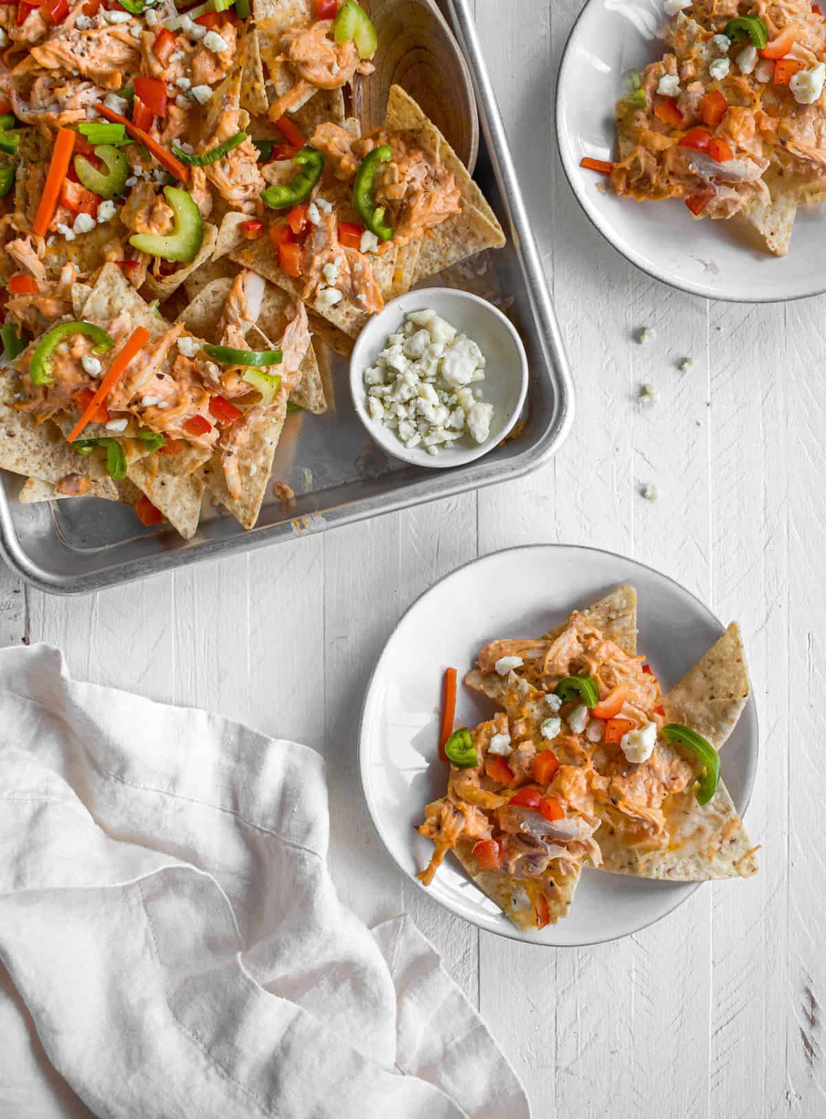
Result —
[[362, 331], [350, 387], [358, 415], [389, 454], [452, 467], [486, 454], [513, 429], [527, 359], [492, 304], [449, 288], [411, 291]]

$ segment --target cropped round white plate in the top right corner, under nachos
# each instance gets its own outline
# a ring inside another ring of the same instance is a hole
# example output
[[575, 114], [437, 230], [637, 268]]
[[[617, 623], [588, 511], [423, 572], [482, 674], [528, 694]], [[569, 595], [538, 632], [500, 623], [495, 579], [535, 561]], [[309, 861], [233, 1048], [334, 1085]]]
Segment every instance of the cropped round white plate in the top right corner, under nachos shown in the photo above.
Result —
[[585, 214], [631, 263], [696, 295], [762, 303], [826, 291], [823, 206], [801, 207], [788, 255], [772, 256], [741, 218], [697, 222], [682, 199], [619, 198], [603, 176], [579, 166], [583, 156], [616, 157], [614, 102], [629, 69], [663, 57], [655, 35], [664, 21], [661, 0], [589, 0], [571, 31], [556, 85], [556, 138]]

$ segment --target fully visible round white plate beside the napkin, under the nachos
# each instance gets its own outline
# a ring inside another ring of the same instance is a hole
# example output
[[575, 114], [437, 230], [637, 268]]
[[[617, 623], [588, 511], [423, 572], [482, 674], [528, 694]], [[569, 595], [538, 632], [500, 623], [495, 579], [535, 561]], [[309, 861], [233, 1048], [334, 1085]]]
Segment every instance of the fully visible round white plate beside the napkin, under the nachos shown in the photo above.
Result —
[[[359, 765], [367, 808], [382, 840], [414, 882], [433, 845], [415, 828], [424, 806], [444, 794], [439, 761], [442, 673], [460, 677], [494, 638], [533, 637], [620, 583], [638, 594], [639, 650], [668, 690], [723, 632], [702, 602], [658, 572], [594, 548], [536, 545], [475, 560], [410, 608], [378, 659], [362, 711]], [[461, 688], [460, 724], [489, 717], [484, 696]], [[742, 814], [758, 760], [753, 698], [723, 751], [723, 778]], [[424, 887], [422, 887], [424, 888]], [[541, 944], [593, 944], [626, 937], [669, 913], [695, 883], [648, 882], [585, 869], [570, 915], [541, 932], [520, 932], [449, 856], [428, 887], [432, 897], [480, 929]]]

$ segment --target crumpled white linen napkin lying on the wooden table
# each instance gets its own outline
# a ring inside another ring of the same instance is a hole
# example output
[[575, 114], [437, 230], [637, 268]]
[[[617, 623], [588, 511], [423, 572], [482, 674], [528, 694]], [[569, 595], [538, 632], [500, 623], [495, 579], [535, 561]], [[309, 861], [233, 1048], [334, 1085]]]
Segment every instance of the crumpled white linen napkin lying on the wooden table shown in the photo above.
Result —
[[524, 1119], [406, 916], [336, 897], [321, 758], [0, 650], [0, 1116]]

